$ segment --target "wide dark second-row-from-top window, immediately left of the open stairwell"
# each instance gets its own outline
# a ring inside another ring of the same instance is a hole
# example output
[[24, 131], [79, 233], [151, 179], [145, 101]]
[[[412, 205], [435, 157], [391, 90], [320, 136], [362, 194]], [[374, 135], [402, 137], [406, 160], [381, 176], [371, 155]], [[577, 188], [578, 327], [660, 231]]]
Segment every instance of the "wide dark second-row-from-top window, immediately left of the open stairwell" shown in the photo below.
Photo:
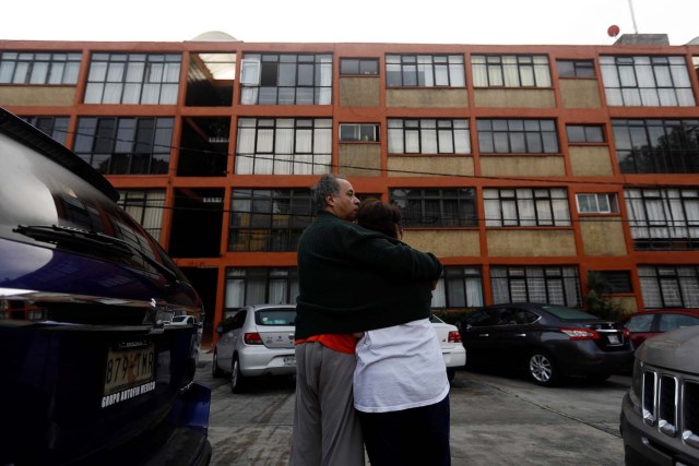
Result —
[[104, 175], [167, 174], [173, 118], [81, 118], [75, 153]]

